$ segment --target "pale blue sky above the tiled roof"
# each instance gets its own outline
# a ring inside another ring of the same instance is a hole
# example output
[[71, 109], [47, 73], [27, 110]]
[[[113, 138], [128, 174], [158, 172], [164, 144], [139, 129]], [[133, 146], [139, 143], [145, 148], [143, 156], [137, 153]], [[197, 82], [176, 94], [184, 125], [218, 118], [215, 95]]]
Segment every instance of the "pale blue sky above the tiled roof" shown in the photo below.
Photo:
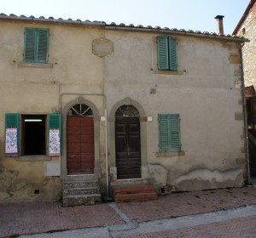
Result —
[[250, 0], [0, 0], [0, 13], [208, 32], [217, 32], [214, 18], [216, 15], [224, 15], [224, 34], [231, 34], [249, 2]]

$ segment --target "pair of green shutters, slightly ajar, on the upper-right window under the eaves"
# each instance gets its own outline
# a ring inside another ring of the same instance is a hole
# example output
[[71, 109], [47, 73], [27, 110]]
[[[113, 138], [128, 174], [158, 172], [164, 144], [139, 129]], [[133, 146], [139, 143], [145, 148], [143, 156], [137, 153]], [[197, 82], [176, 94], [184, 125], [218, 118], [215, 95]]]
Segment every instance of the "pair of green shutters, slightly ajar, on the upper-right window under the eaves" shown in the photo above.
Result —
[[177, 39], [157, 37], [157, 63], [160, 71], [177, 71]]

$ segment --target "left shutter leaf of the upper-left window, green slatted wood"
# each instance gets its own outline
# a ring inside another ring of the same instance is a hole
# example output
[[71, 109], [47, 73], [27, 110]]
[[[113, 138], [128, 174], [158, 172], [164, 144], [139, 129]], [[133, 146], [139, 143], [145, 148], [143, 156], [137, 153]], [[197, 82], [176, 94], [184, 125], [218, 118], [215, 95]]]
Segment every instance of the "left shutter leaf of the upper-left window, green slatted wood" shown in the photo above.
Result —
[[36, 28], [25, 28], [25, 48], [24, 48], [24, 60], [34, 61], [37, 51], [37, 29]]

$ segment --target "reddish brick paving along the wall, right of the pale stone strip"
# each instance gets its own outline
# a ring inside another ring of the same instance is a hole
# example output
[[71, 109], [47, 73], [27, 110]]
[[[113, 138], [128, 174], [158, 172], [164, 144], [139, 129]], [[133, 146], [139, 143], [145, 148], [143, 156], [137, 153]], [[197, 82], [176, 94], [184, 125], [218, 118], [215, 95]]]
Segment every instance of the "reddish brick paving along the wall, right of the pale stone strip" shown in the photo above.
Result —
[[176, 218], [256, 204], [256, 188], [205, 190], [177, 193], [155, 201], [118, 203], [134, 222]]

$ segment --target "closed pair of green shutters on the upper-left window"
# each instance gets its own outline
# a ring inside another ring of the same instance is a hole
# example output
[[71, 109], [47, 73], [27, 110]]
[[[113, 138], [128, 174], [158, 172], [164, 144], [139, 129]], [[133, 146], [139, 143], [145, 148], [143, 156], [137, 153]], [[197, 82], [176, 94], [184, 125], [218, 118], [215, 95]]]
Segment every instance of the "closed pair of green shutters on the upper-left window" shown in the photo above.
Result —
[[49, 29], [25, 28], [24, 61], [47, 63]]

